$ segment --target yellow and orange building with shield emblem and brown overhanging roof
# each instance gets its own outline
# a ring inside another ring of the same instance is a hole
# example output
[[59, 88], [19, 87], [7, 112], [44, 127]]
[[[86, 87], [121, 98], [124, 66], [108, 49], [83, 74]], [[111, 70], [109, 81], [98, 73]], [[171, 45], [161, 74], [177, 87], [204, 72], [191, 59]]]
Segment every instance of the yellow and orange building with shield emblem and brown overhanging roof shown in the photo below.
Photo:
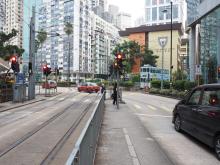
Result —
[[[170, 25], [154, 25], [140, 26], [135, 28], [127, 28], [125, 31], [120, 31], [120, 36], [128, 37], [131, 41], [136, 41], [141, 46], [146, 46], [158, 56], [157, 67], [162, 68], [162, 48], [159, 44], [160, 37], [167, 38], [167, 44], [164, 47], [164, 69], [170, 70]], [[179, 68], [180, 57], [180, 41], [182, 36], [182, 24], [173, 24], [173, 42], [172, 42], [172, 66], [173, 71]], [[137, 59], [136, 59], [137, 60]], [[133, 68], [134, 73], [140, 73], [140, 59], [136, 61], [138, 65]]]

